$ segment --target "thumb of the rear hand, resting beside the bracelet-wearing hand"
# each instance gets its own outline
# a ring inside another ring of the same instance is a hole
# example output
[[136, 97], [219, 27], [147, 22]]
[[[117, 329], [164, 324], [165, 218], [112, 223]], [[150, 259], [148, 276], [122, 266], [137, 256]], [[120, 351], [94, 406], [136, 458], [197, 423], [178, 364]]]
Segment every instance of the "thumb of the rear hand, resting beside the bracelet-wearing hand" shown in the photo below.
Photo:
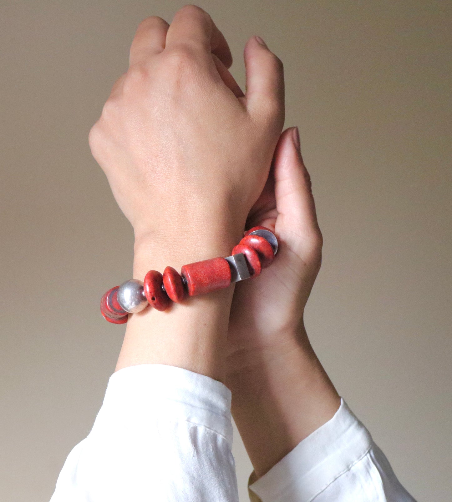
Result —
[[274, 155], [278, 219], [288, 238], [292, 236], [295, 240], [301, 235], [314, 238], [320, 235], [311, 180], [301, 157], [299, 141], [297, 128], [286, 129]]

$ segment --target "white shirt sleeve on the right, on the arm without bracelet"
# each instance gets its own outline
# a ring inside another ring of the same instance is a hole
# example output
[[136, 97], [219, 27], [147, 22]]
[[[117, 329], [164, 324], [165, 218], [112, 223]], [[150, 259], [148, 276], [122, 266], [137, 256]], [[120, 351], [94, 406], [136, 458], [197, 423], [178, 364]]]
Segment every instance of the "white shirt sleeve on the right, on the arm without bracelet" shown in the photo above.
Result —
[[344, 400], [331, 420], [255, 478], [252, 502], [415, 502]]

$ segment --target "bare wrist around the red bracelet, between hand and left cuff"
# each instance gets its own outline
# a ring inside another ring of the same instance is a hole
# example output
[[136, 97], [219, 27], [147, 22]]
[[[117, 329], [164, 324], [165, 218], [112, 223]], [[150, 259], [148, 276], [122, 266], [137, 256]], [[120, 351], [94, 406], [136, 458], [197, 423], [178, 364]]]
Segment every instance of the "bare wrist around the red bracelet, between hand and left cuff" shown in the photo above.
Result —
[[[181, 266], [231, 253], [240, 231], [187, 228], [185, 236], [154, 241], [137, 238], [133, 277], [143, 280], [149, 270], [163, 272], [167, 265]], [[168, 311], [150, 307], [129, 316], [116, 370], [135, 364], [168, 364], [223, 381], [224, 354], [234, 285], [172, 304]]]

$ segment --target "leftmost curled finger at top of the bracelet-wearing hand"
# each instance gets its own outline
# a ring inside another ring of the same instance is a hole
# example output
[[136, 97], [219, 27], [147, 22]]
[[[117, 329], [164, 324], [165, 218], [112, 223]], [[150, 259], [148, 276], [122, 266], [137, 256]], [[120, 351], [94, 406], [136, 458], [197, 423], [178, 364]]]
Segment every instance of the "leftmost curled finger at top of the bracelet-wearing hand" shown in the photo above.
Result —
[[129, 64], [136, 64], [162, 52], [168, 28], [169, 24], [157, 16], [142, 21], [130, 48]]

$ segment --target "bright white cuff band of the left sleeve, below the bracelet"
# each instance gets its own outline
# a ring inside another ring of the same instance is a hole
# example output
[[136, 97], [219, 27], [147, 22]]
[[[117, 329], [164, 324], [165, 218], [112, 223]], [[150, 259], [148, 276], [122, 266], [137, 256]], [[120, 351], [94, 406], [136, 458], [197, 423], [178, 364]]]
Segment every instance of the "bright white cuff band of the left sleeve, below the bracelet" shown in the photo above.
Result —
[[113, 373], [90, 434], [111, 417], [136, 421], [156, 410], [159, 420], [207, 427], [232, 446], [231, 391], [209, 376], [166, 364], [137, 364]]

